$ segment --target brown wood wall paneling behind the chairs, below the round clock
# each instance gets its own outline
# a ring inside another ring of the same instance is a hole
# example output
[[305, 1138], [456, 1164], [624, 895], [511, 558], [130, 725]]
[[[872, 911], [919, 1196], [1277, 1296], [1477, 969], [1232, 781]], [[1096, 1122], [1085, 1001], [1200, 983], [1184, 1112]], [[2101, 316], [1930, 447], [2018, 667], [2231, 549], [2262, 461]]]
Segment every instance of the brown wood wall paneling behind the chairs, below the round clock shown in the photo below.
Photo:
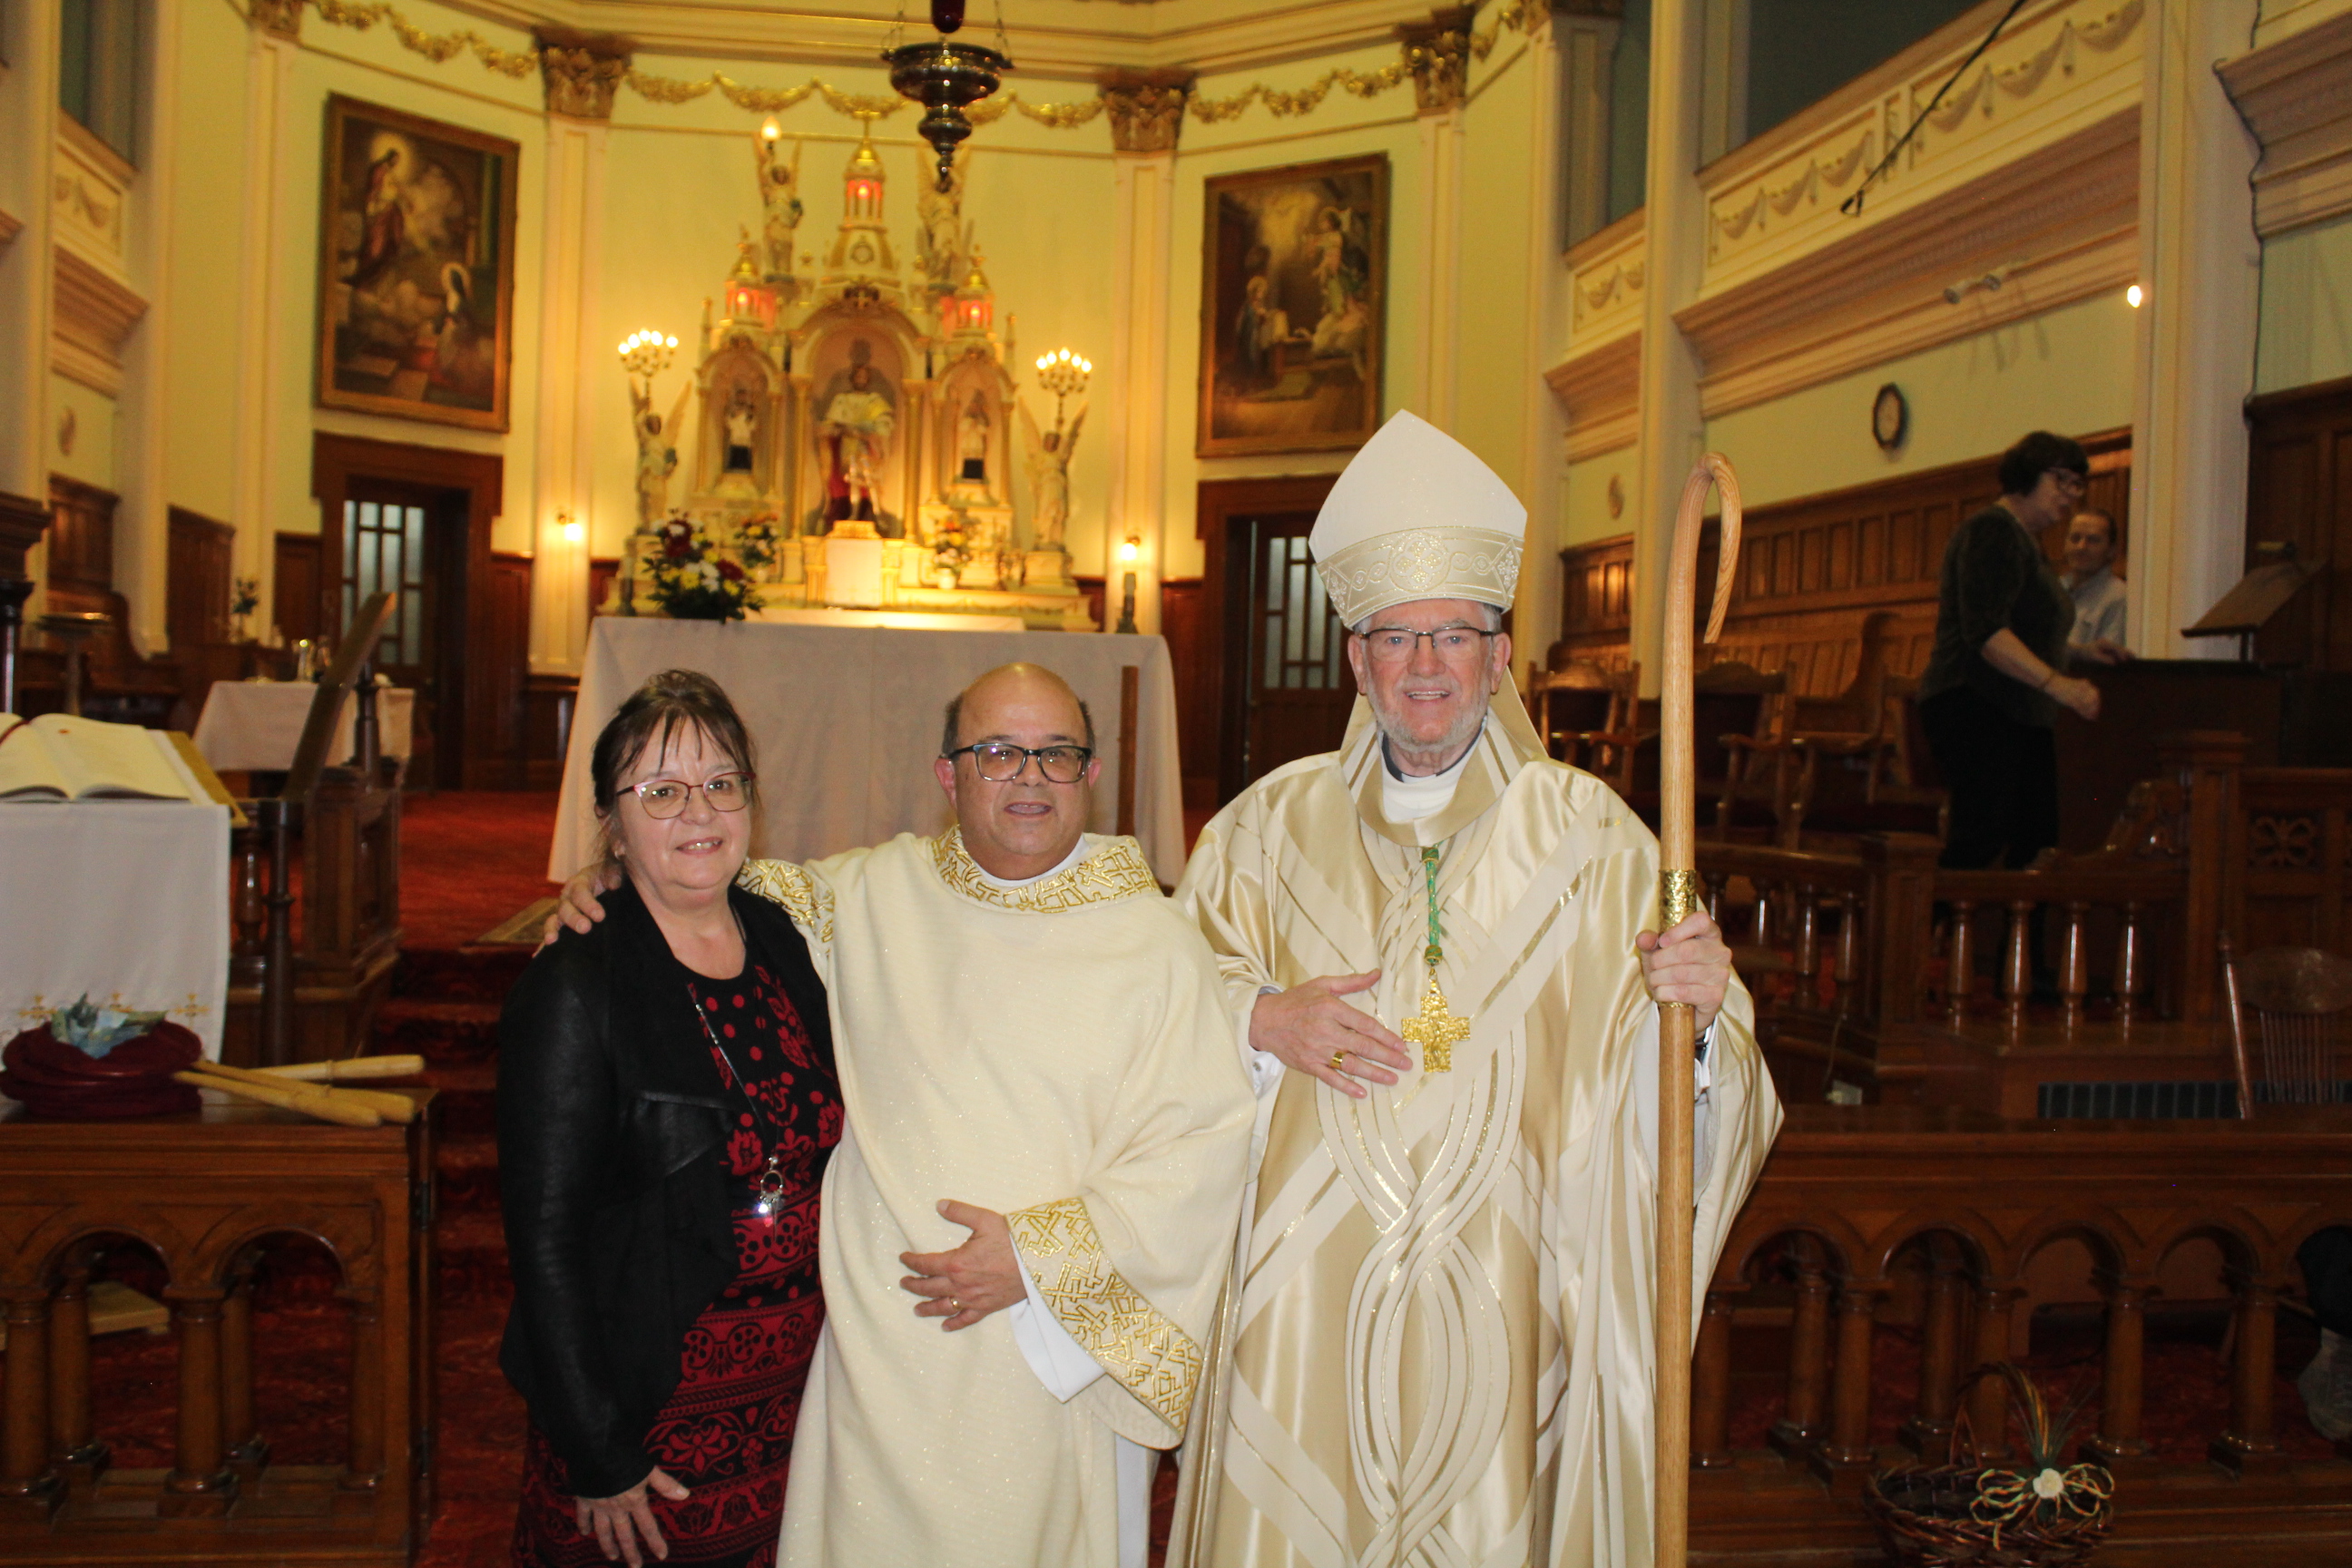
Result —
[[[2091, 494], [2129, 548], [2131, 433], [2084, 437]], [[1790, 670], [1797, 696], [1835, 696], [1853, 679], [1863, 621], [1893, 611], [1889, 665], [1917, 675], [1936, 637], [1936, 578], [1952, 529], [1999, 496], [1999, 456], [1952, 463], [1858, 489], [1752, 508], [1740, 543], [1724, 637], [1700, 663], [1738, 658]], [[2060, 541], [2044, 548], [2058, 557]], [[1562, 637], [1552, 661], [1623, 668], [1632, 644], [1632, 536], [1559, 552]], [[2129, 576], [2129, 562], [2124, 564]], [[1715, 529], [1700, 543], [1698, 581], [1715, 581]], [[1705, 616], [1705, 604], [1698, 614]]]

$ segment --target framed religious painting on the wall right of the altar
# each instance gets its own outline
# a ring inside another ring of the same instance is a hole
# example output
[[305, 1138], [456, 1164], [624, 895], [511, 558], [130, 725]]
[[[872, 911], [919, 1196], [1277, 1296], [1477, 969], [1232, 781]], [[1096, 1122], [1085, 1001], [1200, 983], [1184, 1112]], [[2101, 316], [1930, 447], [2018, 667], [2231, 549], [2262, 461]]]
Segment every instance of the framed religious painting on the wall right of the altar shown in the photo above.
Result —
[[1200, 456], [1362, 447], [1381, 428], [1388, 158], [1207, 181]]

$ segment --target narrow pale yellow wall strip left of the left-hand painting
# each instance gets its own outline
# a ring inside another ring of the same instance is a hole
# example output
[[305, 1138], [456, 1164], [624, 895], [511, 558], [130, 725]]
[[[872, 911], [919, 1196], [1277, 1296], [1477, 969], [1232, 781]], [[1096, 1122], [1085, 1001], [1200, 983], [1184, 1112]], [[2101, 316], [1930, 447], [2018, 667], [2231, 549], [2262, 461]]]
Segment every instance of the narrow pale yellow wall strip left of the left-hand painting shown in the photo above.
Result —
[[179, 24], [179, 160], [165, 296], [165, 494], [205, 517], [235, 510], [238, 223], [245, 207], [247, 26], [226, 5]]

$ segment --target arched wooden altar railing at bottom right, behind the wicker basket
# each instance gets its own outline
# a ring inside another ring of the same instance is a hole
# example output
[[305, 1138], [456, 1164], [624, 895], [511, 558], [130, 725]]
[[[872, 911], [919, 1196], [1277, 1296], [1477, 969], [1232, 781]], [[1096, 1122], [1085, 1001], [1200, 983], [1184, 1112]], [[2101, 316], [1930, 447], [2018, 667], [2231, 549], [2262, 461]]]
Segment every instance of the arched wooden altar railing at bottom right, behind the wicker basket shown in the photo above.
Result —
[[[2053, 1241], [2091, 1253], [2103, 1298], [2100, 1413], [2084, 1448], [2119, 1476], [2117, 1547], [2171, 1537], [2197, 1542], [2180, 1561], [2220, 1561], [2213, 1552], [2237, 1537], [2340, 1535], [2352, 1462], [2288, 1467], [2272, 1368], [2279, 1302], [2303, 1291], [2296, 1248], [2328, 1225], [2352, 1225], [2343, 1117], [2046, 1124], [1790, 1107], [1705, 1293], [1691, 1392], [1693, 1559], [1867, 1544], [1865, 1476], [1912, 1455], [1943, 1460], [1964, 1375], [2009, 1356], [2011, 1319], [2030, 1312], [2027, 1265]], [[2192, 1239], [2218, 1246], [2230, 1291], [2227, 1418], [2201, 1434], [2194, 1462], [2166, 1462], [2143, 1436], [2143, 1328], [2166, 1258]], [[1776, 1307], [1752, 1309], [1759, 1295]], [[1872, 1399], [1889, 1389], [1875, 1387], [1872, 1352], [1893, 1298], [1915, 1314], [1919, 1375], [1898, 1389], [1912, 1415], [1896, 1446], [1877, 1446]], [[1769, 1448], [1736, 1453], [1733, 1366], [1752, 1375], [1759, 1354], [1783, 1354], [1776, 1335], [1740, 1338], [1743, 1309], [1788, 1324], [1785, 1363], [1771, 1368], [1785, 1403]], [[2004, 1389], [1987, 1380], [1966, 1399], [1973, 1432], [2002, 1450]], [[2211, 1465], [2237, 1486], [2218, 1486]]]

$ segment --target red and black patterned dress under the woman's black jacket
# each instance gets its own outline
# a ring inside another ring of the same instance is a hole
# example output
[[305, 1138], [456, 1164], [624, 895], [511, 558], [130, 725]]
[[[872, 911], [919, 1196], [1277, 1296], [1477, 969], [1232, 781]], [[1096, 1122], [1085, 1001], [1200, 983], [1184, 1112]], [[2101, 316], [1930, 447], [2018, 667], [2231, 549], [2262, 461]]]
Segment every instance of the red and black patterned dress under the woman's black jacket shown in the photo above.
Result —
[[[731, 1180], [736, 1276], [694, 1321], [677, 1392], [654, 1418], [647, 1450], [687, 1490], [652, 1497], [670, 1544], [668, 1568], [708, 1563], [769, 1568], [783, 1521], [793, 1425], [809, 1382], [826, 1298], [816, 1284], [816, 1204], [826, 1159], [842, 1140], [842, 1081], [833, 1053], [809, 1030], [774, 966], [746, 954], [734, 980], [668, 966], [703, 1009], [713, 1060], [734, 1105], [722, 1164]], [[743, 1093], [736, 1093], [741, 1081]], [[783, 1175], [774, 1218], [755, 1213], [755, 1178], [769, 1154]], [[564, 1465], [532, 1427], [515, 1514], [515, 1563], [607, 1568], [576, 1523]], [[652, 1563], [652, 1554], [647, 1554]]]

